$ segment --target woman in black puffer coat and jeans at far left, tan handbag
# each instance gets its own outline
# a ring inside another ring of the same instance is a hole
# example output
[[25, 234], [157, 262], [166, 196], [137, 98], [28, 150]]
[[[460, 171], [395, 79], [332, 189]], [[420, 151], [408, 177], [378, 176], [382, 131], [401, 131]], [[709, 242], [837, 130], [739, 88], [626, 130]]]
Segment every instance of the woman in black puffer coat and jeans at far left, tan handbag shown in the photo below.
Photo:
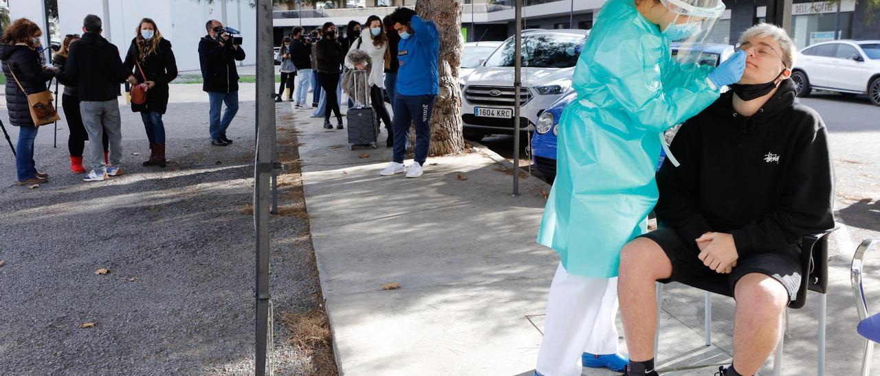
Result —
[[38, 172], [33, 161], [37, 127], [33, 125], [27, 105], [27, 94], [46, 91], [46, 82], [55, 76], [55, 69], [40, 66], [40, 55], [34, 48], [40, 43], [40, 35], [40, 26], [27, 18], [18, 18], [6, 28], [0, 40], [0, 60], [6, 76], [6, 108], [9, 122], [18, 127], [15, 167], [18, 184], [22, 185], [48, 182], [48, 175]]

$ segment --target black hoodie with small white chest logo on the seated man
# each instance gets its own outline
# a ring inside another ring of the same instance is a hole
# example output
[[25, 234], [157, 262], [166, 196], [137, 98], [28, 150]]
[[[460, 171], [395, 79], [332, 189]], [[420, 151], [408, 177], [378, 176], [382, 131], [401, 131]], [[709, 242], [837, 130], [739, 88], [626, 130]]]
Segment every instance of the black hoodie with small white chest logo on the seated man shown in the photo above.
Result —
[[767, 103], [744, 117], [733, 92], [686, 121], [672, 141], [681, 166], [657, 172], [661, 226], [687, 242], [705, 232], [733, 235], [739, 257], [786, 249], [834, 226], [834, 177], [825, 124], [795, 103], [785, 80]]

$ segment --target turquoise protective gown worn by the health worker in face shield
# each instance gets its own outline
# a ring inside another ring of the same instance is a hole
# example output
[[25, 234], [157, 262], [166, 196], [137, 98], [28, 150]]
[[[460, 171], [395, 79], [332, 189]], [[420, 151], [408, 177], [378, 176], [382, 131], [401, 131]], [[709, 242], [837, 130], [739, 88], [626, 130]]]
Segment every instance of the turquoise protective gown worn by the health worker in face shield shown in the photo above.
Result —
[[669, 43], [633, 0], [610, 0], [583, 47], [538, 234], [569, 274], [617, 276], [620, 249], [647, 231], [656, 204], [658, 134], [719, 96], [710, 68], [678, 65]]

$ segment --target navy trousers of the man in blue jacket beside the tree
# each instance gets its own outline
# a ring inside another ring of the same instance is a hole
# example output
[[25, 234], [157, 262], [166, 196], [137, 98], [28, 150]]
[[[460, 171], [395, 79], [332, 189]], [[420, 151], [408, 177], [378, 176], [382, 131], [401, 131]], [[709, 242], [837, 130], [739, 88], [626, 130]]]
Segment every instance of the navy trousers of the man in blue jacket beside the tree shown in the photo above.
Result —
[[431, 111], [436, 95], [394, 96], [394, 162], [403, 163], [407, 155], [409, 125], [415, 127], [415, 162], [422, 166], [431, 145]]

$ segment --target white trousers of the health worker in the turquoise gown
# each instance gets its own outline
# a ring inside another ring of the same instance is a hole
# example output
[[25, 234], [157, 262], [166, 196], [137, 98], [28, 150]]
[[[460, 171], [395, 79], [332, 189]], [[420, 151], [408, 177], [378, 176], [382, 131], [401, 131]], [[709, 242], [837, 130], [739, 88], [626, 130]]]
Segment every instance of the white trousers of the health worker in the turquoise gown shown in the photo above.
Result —
[[550, 285], [536, 371], [580, 376], [583, 352], [618, 352], [617, 308], [617, 278], [571, 275], [560, 264]]

